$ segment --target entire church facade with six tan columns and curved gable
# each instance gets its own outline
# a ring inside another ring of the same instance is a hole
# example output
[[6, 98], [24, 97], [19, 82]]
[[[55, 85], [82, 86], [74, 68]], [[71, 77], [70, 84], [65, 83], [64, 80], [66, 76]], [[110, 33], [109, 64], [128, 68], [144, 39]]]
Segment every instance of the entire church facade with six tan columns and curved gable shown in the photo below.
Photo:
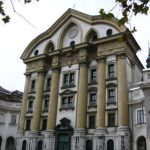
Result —
[[21, 56], [17, 150], [132, 150], [128, 88], [142, 79], [139, 49], [116, 20], [68, 9]]

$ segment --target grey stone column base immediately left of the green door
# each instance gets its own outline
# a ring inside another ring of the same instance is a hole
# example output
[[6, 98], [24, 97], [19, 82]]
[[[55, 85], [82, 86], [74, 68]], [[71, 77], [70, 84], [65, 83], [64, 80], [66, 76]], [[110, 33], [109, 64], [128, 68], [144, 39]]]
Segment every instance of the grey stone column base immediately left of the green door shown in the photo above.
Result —
[[55, 149], [55, 136], [54, 130], [47, 130], [44, 133], [44, 150], [54, 150]]

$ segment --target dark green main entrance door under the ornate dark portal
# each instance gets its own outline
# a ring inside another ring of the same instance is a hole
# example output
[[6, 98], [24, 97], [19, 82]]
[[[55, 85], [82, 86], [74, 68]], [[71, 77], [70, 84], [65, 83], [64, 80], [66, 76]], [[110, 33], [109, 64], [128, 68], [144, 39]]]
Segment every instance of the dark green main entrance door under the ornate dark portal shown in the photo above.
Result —
[[57, 150], [70, 150], [69, 135], [60, 134], [58, 136], [58, 149]]

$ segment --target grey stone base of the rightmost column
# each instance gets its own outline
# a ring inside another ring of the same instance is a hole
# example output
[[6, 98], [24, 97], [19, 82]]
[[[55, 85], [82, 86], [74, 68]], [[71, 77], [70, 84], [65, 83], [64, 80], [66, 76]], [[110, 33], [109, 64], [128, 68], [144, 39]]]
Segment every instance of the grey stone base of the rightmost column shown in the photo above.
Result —
[[131, 131], [129, 127], [118, 127], [116, 135], [116, 150], [131, 150]]

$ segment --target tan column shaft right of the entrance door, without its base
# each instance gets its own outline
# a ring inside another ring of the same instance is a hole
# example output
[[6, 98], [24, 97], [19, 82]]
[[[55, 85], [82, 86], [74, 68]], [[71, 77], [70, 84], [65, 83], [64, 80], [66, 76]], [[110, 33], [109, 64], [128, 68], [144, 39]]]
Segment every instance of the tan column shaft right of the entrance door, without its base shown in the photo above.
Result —
[[77, 129], [86, 128], [86, 110], [87, 110], [87, 84], [88, 69], [87, 64], [80, 64], [78, 106], [77, 106]]

